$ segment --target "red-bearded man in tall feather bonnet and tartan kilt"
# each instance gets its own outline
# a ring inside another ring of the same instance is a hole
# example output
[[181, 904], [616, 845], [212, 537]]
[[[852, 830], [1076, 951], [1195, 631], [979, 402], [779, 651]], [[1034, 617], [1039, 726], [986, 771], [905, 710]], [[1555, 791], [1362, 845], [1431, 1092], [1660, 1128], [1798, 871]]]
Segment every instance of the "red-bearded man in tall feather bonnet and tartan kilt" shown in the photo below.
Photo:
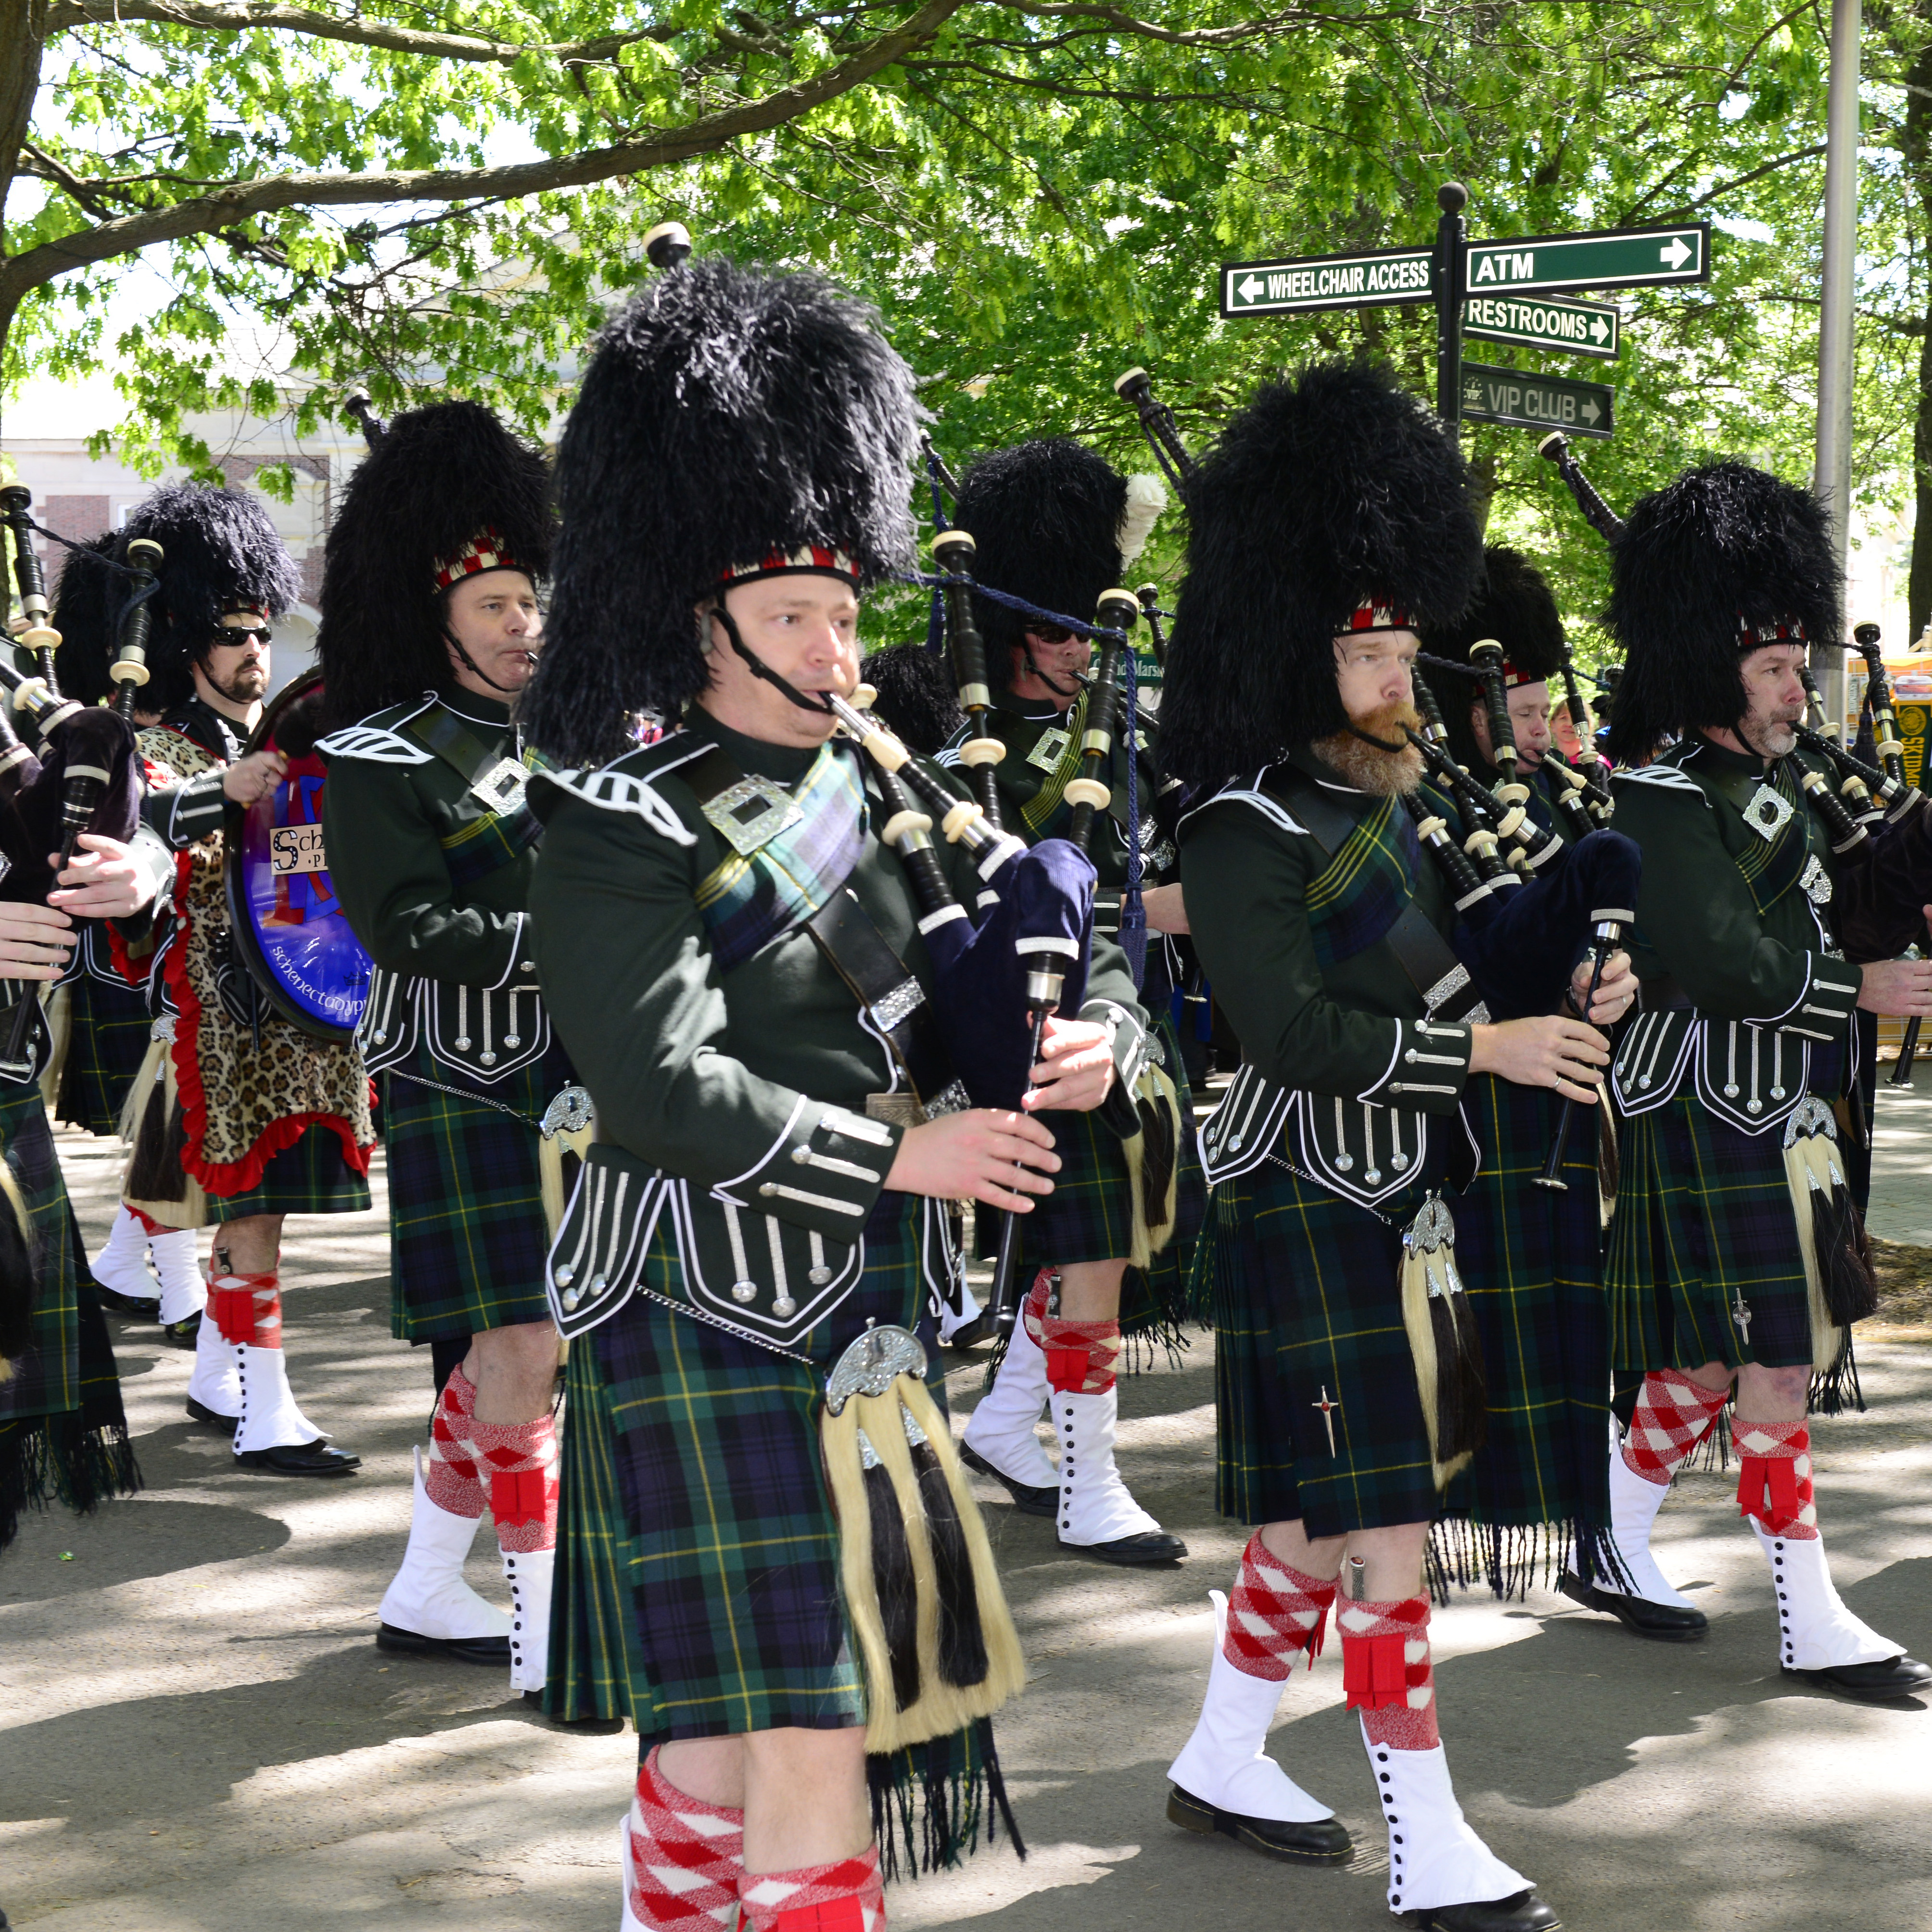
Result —
[[1213, 1594], [1208, 1696], [1167, 1816], [1275, 1859], [1350, 1855], [1264, 1752], [1333, 1607], [1389, 1824], [1389, 1909], [1437, 1932], [1548, 1932], [1555, 1913], [1464, 1822], [1437, 1731], [1422, 1561], [1484, 1412], [1439, 1190], [1468, 1180], [1472, 1078], [1588, 1105], [1609, 1051], [1578, 1018], [1472, 1010], [1451, 893], [1403, 804], [1420, 779], [1403, 738], [1416, 632], [1466, 605], [1480, 566], [1466, 471], [1385, 373], [1318, 365], [1229, 423], [1188, 516], [1161, 724], [1171, 769], [1215, 786], [1182, 819], [1180, 875], [1248, 1063], [1204, 1132], [1200, 1265], [1219, 1503], [1260, 1528], [1233, 1598]]

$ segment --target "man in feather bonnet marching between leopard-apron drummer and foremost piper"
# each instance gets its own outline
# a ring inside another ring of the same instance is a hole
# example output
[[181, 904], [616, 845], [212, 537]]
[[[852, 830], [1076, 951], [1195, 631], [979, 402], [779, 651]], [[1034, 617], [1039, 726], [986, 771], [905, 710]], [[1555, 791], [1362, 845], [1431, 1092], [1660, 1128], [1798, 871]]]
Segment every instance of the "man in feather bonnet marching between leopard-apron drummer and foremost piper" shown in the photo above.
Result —
[[[475, 402], [398, 415], [342, 493], [323, 568], [323, 842], [375, 962], [357, 1034], [383, 1082], [390, 1325], [460, 1356], [415, 1453], [377, 1644], [508, 1663], [543, 1689], [556, 1553], [556, 1329], [543, 1256], [562, 1117], [587, 1121], [537, 987], [541, 827], [514, 705], [543, 641], [549, 471]], [[549, 1177], [549, 1186], [547, 1186]], [[504, 1615], [464, 1582], [489, 1507]]]

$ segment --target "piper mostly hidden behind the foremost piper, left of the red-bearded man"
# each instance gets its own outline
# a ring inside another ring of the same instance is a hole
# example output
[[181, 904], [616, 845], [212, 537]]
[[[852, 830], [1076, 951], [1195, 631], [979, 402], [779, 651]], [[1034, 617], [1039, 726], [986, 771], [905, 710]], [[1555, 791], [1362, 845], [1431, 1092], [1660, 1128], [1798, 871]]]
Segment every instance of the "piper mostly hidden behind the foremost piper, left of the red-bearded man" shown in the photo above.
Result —
[[[1051, 437], [968, 464], [954, 524], [972, 537], [978, 583], [1024, 599], [1034, 612], [1088, 624], [1165, 502], [1157, 477], [1122, 477], [1080, 442]], [[974, 614], [993, 703], [980, 723], [960, 726], [943, 761], [966, 788], [972, 773], [958, 763], [962, 746], [997, 740], [1005, 755], [993, 773], [1007, 831], [1028, 844], [1065, 838], [1074, 813], [1066, 784], [1080, 771], [1086, 740], [1092, 641], [985, 591], [974, 595]], [[966, 1426], [962, 1455], [997, 1478], [1018, 1509], [1053, 1517], [1063, 1548], [1121, 1565], [1173, 1563], [1186, 1555], [1186, 1544], [1134, 1501], [1115, 1464], [1122, 1335], [1177, 1331], [1206, 1198], [1192, 1095], [1169, 1018], [1167, 935], [1186, 931], [1171, 837], [1179, 786], [1159, 767], [1146, 713], [1138, 713], [1132, 746], [1124, 726], [1113, 730], [1103, 782], [1109, 806], [1095, 813], [1088, 848], [1099, 875], [1094, 923], [1119, 935], [1138, 856], [1146, 881], [1140, 904], [1151, 929], [1142, 1001], [1155, 1020], [1155, 1066], [1165, 1063], [1175, 1095], [1173, 1124], [1157, 1134], [1163, 1171], [1150, 1180], [1142, 1146], [1124, 1146], [1092, 1115], [1053, 1122], [1063, 1167], [1053, 1200], [1020, 1235], [1024, 1320]], [[983, 1252], [991, 1252], [987, 1235]], [[1037, 1435], [1049, 1403], [1059, 1468]]]

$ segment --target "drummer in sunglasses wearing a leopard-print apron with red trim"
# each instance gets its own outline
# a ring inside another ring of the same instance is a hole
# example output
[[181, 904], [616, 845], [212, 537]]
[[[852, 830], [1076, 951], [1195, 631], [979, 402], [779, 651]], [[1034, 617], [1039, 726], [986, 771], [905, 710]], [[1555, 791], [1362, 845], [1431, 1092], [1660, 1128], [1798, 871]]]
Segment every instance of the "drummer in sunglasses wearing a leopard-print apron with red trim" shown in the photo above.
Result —
[[284, 1215], [369, 1206], [369, 1076], [354, 1045], [323, 1045], [263, 1010], [232, 952], [224, 891], [228, 804], [282, 782], [276, 752], [243, 748], [269, 692], [272, 624], [299, 578], [242, 491], [170, 483], [124, 533], [162, 549], [147, 663], [164, 715], [139, 746], [143, 817], [176, 854], [124, 1200], [151, 1233], [214, 1225], [189, 1416], [234, 1437], [240, 1468], [348, 1476], [359, 1459], [328, 1445], [288, 1385], [278, 1269]]

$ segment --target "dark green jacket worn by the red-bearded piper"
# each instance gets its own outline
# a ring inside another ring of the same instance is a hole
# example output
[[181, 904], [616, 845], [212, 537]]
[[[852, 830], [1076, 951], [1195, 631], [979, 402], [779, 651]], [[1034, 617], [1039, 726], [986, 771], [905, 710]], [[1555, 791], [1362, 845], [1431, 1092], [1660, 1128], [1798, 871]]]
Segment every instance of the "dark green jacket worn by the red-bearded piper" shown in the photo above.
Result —
[[[1352, 825], [1339, 850], [1296, 817], [1312, 794]], [[1424, 1138], [1459, 1132], [1472, 1036], [1432, 1018], [1387, 937], [1410, 904], [1445, 943], [1455, 925], [1403, 806], [1294, 752], [1180, 821], [1180, 883], [1194, 947], [1246, 1055], [1202, 1134], [1209, 1180], [1285, 1148], [1364, 1206], [1410, 1184]]]

